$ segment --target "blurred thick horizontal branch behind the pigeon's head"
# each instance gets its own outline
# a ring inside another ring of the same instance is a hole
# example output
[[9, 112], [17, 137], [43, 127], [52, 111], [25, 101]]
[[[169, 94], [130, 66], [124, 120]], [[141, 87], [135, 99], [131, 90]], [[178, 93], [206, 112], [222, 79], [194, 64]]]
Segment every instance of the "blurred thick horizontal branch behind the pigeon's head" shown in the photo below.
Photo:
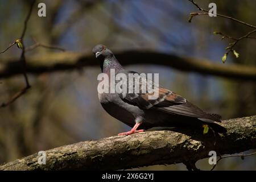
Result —
[[[186, 72], [197, 72], [242, 80], [256, 80], [256, 68], [236, 64], [220, 64], [205, 59], [177, 56], [154, 51], [115, 52], [122, 65], [158, 64]], [[38, 75], [44, 72], [72, 71], [82, 67], [98, 65], [92, 53], [57, 52], [43, 55], [27, 56], [27, 73]], [[22, 73], [18, 60], [9, 58], [0, 61], [0, 78]]]

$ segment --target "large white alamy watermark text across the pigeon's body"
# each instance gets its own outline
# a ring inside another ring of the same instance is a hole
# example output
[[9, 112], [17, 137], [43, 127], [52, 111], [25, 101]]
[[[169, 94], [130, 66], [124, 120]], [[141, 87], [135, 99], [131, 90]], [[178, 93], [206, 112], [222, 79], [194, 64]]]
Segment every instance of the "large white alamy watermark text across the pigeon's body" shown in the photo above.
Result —
[[115, 69], [110, 69], [110, 78], [106, 73], [100, 73], [97, 80], [98, 93], [118, 93], [126, 97], [127, 93], [148, 93], [148, 100], [155, 100], [159, 95], [159, 74], [154, 73], [117, 73]]

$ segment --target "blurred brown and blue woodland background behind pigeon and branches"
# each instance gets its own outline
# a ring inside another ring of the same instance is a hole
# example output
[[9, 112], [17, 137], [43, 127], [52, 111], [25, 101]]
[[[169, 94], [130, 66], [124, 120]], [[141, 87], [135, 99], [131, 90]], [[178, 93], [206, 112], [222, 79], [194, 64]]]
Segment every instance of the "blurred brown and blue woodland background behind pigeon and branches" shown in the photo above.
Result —
[[[38, 16], [39, 2], [36, 2], [24, 37], [27, 47], [34, 44], [34, 38], [67, 51], [90, 54], [96, 44], [102, 43], [113, 52], [147, 49], [221, 63], [229, 41], [221, 40], [221, 36], [214, 35], [213, 31], [240, 37], [251, 30], [231, 20], [209, 16], [196, 16], [192, 23], [188, 23], [189, 14], [196, 11], [196, 7], [187, 0], [40, 2], [46, 3], [47, 16]], [[205, 9], [210, 2], [215, 2], [217, 13], [256, 24], [254, 0], [196, 2]], [[0, 0], [0, 51], [19, 38], [29, 8], [30, 1]], [[236, 46], [240, 57], [236, 59], [230, 53], [225, 66], [234, 63], [255, 66], [255, 47], [254, 39], [242, 40]], [[20, 52], [16, 46], [12, 47], [0, 55], [0, 61], [19, 58]], [[59, 51], [38, 47], [26, 56], [44, 56], [48, 52]], [[256, 85], [253, 81], [205, 76], [160, 65], [130, 65], [126, 69], [159, 73], [162, 86], [224, 119], [256, 114]], [[99, 66], [72, 72], [28, 73], [32, 88], [10, 106], [0, 108], [0, 163], [40, 150], [110, 137], [129, 130], [102, 109], [97, 96], [98, 73]], [[8, 100], [23, 86], [22, 75], [0, 77], [0, 102]], [[197, 167], [210, 169], [212, 166], [208, 159], [203, 159], [197, 162]], [[185, 170], [186, 167], [176, 164], [139, 169]], [[224, 159], [216, 169], [255, 170], [256, 156], [244, 160]]]

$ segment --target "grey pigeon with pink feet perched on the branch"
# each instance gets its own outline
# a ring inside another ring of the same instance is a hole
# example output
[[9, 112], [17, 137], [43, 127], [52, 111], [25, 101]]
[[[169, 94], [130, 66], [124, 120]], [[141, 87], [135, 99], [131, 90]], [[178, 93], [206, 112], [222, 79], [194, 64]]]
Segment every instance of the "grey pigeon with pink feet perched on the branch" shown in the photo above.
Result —
[[[111, 69], [114, 69], [115, 74], [136, 73], [126, 71], [113, 52], [102, 44], [95, 46], [93, 53], [100, 61], [101, 72], [108, 76], [110, 76]], [[99, 81], [99, 84], [102, 80]], [[162, 86], [159, 86], [158, 89], [158, 97], [152, 100], [148, 98], [150, 93], [98, 92], [98, 98], [105, 111], [132, 127], [130, 131], [118, 135], [130, 135], [154, 127], [199, 128], [205, 127], [205, 125], [214, 132], [226, 132], [225, 127], [218, 125], [218, 122], [221, 122], [220, 115], [206, 113], [184, 97]]]

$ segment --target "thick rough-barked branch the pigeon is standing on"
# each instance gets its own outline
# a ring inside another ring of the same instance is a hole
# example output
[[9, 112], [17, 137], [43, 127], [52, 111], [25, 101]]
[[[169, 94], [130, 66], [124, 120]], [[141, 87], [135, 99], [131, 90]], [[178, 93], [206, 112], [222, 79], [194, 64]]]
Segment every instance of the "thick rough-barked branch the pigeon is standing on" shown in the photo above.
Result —
[[[0, 170], [127, 169], [154, 164], [195, 162], [208, 152], [233, 154], [256, 148], [256, 115], [221, 123], [225, 135], [182, 129], [147, 131], [69, 144], [46, 151], [46, 164], [38, 154], [2, 164]], [[214, 145], [214, 141], [216, 144]]]

